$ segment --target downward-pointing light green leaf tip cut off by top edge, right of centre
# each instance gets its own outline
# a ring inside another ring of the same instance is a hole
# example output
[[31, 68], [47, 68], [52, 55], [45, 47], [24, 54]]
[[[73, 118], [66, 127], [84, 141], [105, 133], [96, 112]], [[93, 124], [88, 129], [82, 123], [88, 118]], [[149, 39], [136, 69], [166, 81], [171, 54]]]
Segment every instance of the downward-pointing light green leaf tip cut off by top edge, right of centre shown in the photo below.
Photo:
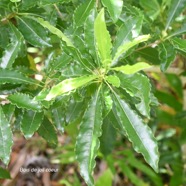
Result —
[[114, 22], [116, 22], [121, 14], [123, 1], [122, 0], [102, 0], [102, 3], [107, 7], [108, 12]]

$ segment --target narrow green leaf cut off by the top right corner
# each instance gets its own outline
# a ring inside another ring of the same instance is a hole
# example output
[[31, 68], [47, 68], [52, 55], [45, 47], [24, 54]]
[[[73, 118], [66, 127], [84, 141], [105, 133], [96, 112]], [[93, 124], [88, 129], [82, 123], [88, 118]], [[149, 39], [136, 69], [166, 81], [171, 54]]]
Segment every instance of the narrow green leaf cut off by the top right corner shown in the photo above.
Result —
[[169, 12], [167, 23], [165, 26], [165, 30], [167, 30], [171, 24], [171, 22], [181, 14], [182, 10], [185, 8], [186, 0], [172, 0]]

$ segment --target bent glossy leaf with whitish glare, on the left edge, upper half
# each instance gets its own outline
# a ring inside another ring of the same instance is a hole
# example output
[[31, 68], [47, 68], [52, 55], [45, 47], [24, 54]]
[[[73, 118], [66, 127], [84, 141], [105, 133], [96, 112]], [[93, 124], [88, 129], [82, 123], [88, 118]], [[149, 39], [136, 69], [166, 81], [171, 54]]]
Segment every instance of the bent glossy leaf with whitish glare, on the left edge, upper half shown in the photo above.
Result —
[[23, 36], [17, 28], [11, 23], [9, 23], [9, 26], [11, 32], [11, 43], [7, 46], [7, 48], [5, 48], [3, 56], [0, 59], [0, 67], [3, 69], [12, 67], [12, 64], [18, 57], [18, 53], [24, 42]]

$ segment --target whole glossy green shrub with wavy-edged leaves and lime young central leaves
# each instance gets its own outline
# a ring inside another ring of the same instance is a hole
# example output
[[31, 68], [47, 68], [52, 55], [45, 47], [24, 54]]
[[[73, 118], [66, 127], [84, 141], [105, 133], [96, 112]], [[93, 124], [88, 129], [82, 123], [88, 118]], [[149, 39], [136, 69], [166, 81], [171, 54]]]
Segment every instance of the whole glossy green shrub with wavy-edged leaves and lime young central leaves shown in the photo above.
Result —
[[158, 65], [165, 72], [177, 53], [185, 55], [184, 3], [2, 0], [2, 161], [9, 162], [12, 131], [25, 138], [37, 131], [55, 147], [57, 132], [75, 124], [87, 185], [94, 185], [99, 146], [110, 153], [116, 131], [158, 172], [158, 144], [147, 125], [158, 101], [142, 70]]

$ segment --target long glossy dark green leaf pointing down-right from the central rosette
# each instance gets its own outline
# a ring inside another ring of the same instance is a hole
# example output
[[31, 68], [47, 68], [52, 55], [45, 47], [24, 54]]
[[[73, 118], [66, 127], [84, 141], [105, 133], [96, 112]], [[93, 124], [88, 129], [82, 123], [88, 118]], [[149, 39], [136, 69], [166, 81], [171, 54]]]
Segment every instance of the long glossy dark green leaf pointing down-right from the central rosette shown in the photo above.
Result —
[[147, 163], [158, 172], [158, 146], [151, 129], [129, 107], [129, 105], [113, 91], [113, 112], [119, 118], [119, 124], [132, 142], [134, 149], [141, 153]]

